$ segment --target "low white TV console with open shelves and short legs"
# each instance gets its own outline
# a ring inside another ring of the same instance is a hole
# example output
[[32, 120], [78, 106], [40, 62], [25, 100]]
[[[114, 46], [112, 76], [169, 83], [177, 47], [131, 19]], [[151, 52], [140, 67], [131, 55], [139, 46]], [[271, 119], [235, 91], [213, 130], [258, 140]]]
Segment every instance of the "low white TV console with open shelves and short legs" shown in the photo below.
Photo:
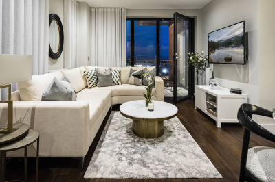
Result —
[[239, 107], [248, 103], [247, 94], [231, 94], [228, 88], [213, 90], [210, 86], [195, 86], [195, 109], [201, 109], [216, 121], [217, 127], [222, 122], [238, 122], [236, 118]]

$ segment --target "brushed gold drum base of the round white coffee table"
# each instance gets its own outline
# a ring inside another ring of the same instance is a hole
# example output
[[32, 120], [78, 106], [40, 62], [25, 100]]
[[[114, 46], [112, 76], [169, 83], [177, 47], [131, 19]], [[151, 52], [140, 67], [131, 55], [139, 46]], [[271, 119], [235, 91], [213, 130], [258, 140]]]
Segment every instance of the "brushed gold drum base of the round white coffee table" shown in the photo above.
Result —
[[141, 138], [159, 138], [164, 134], [164, 121], [133, 120], [132, 131]]

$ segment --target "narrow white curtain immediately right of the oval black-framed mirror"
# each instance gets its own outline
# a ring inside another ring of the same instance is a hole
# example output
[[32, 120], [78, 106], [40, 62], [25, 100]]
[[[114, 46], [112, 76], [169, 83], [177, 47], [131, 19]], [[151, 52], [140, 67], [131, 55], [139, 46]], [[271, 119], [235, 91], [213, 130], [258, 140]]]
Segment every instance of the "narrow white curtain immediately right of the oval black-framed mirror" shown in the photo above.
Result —
[[65, 1], [64, 59], [65, 68], [78, 67], [78, 2]]

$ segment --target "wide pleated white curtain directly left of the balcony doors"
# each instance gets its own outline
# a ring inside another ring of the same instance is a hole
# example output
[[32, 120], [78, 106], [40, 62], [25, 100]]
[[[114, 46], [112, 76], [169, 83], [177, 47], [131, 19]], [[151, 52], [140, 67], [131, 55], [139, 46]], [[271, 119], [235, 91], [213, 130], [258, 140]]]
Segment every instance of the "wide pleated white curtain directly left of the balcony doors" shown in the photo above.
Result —
[[91, 8], [91, 66], [126, 64], [126, 9]]

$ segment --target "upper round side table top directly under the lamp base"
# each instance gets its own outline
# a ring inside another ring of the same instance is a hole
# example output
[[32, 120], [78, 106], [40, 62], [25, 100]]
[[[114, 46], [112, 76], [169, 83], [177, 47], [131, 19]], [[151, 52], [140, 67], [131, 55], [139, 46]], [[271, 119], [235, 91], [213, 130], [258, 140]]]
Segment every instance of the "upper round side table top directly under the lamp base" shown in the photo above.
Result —
[[13, 124], [12, 133], [0, 133], [0, 144], [5, 144], [11, 142], [12, 140], [17, 140], [21, 136], [25, 135], [29, 131], [29, 125], [23, 123]]

